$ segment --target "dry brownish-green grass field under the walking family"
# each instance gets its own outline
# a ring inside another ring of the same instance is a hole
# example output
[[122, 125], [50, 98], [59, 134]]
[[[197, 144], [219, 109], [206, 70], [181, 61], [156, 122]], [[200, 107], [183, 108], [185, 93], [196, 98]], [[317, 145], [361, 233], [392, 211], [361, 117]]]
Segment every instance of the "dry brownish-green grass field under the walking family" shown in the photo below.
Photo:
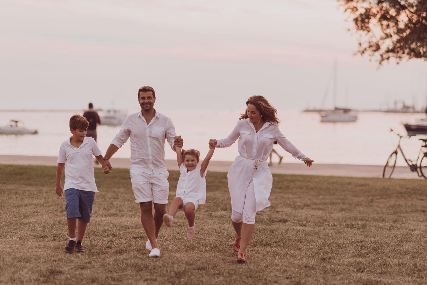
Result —
[[[248, 263], [232, 250], [226, 173], [208, 173], [207, 204], [188, 240], [178, 212], [150, 259], [129, 170], [95, 170], [99, 193], [83, 254], [67, 255], [56, 167], [0, 165], [1, 284], [427, 283], [423, 180], [274, 175], [272, 206], [257, 214]], [[170, 172], [170, 200], [178, 171]]]

